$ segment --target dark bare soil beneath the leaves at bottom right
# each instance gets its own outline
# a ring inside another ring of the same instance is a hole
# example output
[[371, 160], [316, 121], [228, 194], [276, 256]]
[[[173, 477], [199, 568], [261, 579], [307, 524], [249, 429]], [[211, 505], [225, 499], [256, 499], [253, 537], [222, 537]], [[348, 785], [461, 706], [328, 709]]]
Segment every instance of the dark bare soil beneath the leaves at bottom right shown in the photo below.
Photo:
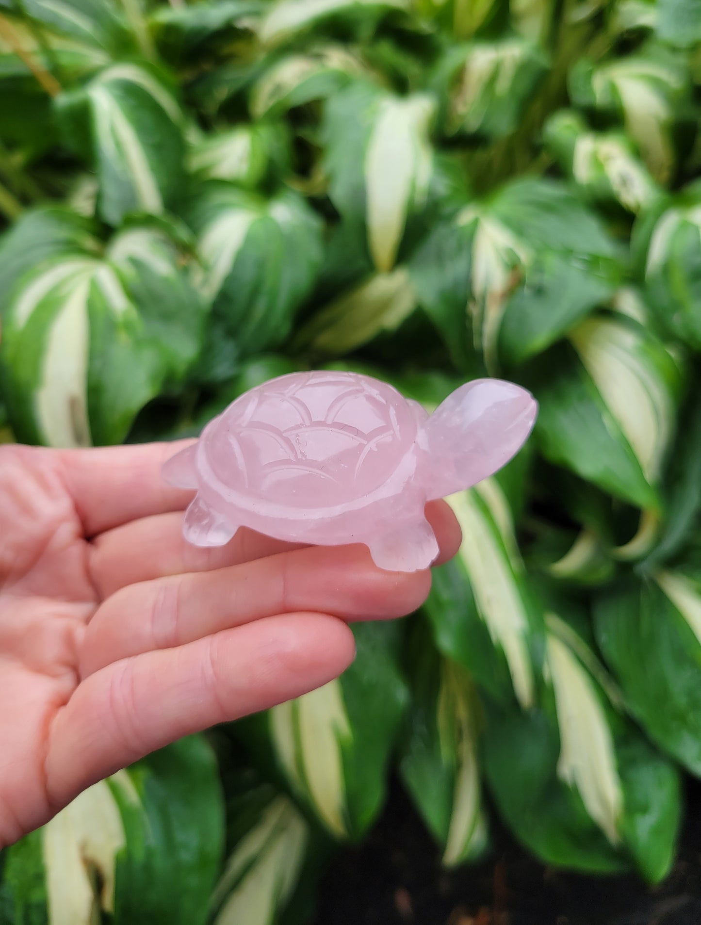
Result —
[[503, 830], [489, 857], [450, 873], [400, 786], [374, 831], [335, 858], [314, 925], [701, 925], [701, 784], [689, 785], [666, 882], [584, 877], [538, 864]]

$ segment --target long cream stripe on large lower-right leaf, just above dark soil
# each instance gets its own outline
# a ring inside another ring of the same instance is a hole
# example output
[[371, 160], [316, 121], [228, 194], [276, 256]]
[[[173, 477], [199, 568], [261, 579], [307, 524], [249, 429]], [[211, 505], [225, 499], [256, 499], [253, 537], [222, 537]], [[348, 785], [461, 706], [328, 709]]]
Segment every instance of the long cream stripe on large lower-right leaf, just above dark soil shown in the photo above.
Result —
[[619, 845], [623, 794], [613, 735], [588, 672], [557, 635], [547, 635], [547, 667], [560, 729], [558, 775], [576, 787], [611, 845]]

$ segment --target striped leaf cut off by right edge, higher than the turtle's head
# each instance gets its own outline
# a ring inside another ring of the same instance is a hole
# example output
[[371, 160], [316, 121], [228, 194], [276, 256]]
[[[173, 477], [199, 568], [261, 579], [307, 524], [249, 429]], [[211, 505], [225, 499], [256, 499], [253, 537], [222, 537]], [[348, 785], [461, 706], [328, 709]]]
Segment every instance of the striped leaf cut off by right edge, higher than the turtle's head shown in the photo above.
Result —
[[701, 185], [642, 216], [633, 253], [660, 324], [694, 350], [701, 348]]

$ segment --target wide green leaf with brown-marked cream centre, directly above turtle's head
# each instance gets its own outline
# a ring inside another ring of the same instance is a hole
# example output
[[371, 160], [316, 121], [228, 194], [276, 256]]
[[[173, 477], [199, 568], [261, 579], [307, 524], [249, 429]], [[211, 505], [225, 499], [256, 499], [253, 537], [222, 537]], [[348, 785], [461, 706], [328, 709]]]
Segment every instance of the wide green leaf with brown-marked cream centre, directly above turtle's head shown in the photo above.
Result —
[[564, 186], [519, 179], [438, 224], [409, 266], [454, 362], [475, 376], [475, 353], [491, 373], [499, 350], [521, 363], [612, 295], [619, 253]]

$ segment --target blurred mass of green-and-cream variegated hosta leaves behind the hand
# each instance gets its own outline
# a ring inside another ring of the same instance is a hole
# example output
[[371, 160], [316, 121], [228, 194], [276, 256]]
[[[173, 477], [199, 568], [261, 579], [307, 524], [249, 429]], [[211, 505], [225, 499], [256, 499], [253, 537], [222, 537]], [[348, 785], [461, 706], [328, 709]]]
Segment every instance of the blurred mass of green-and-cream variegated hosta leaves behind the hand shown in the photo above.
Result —
[[675, 854], [701, 775], [699, 0], [0, 0], [0, 439], [271, 376], [473, 376], [535, 436], [424, 611], [0, 855], [7, 925], [308, 920], [391, 769], [442, 863]]

